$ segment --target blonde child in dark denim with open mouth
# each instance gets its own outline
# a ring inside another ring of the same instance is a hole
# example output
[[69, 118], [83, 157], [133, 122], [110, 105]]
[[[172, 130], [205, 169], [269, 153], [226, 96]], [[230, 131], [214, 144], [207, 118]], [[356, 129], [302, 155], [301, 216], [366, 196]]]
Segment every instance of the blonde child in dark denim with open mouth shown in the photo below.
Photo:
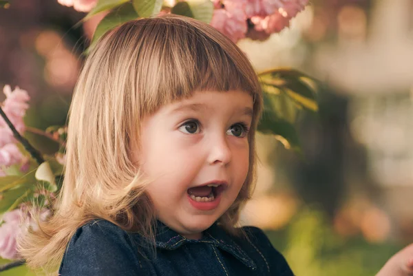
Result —
[[293, 275], [262, 230], [236, 227], [261, 110], [253, 67], [211, 26], [109, 31], [76, 85], [56, 210], [21, 254], [63, 276]]

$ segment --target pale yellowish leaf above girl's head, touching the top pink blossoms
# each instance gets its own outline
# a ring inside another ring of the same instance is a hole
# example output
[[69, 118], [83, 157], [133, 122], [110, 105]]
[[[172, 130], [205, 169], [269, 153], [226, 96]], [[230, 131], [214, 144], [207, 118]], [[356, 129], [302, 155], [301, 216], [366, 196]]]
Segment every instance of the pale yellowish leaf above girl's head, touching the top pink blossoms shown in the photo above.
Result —
[[171, 12], [209, 23], [212, 19], [213, 3], [211, 0], [187, 0], [176, 3]]

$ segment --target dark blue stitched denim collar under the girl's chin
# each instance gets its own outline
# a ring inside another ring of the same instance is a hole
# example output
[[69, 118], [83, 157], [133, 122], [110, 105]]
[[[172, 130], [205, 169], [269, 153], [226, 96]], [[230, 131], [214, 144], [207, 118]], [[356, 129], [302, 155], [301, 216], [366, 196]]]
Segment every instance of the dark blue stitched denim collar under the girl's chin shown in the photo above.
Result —
[[224, 229], [222, 229], [222, 227], [220, 227], [216, 222], [209, 227], [209, 229], [204, 231], [202, 239], [189, 240], [157, 220], [155, 239], [157, 248], [167, 250], [174, 250], [187, 243], [205, 242], [214, 244], [218, 248], [231, 253], [231, 255], [237, 258], [244, 265], [248, 266], [248, 268], [253, 270], [257, 268], [251, 257], [248, 257], [245, 251], [243, 251], [242, 248], [234, 242], [233, 237], [226, 233], [226, 231], [224, 231]]

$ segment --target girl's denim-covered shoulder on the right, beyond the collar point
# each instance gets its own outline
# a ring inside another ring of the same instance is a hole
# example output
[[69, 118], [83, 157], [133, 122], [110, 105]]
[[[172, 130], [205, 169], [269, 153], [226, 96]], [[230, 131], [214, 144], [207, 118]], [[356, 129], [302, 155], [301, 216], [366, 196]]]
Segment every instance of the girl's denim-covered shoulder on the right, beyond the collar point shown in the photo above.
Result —
[[286, 259], [274, 248], [266, 233], [255, 226], [244, 226], [247, 239], [244, 240], [250, 255], [255, 255], [255, 259], [264, 263], [263, 266], [271, 272], [271, 275], [293, 276], [293, 271], [286, 262]]

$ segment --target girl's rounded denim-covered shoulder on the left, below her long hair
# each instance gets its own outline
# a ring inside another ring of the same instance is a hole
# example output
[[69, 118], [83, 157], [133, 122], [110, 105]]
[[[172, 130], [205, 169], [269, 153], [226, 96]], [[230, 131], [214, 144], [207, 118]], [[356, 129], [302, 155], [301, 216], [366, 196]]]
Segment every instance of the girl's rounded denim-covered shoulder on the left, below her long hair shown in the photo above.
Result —
[[67, 245], [60, 275], [137, 275], [137, 249], [126, 231], [107, 220], [76, 230]]

